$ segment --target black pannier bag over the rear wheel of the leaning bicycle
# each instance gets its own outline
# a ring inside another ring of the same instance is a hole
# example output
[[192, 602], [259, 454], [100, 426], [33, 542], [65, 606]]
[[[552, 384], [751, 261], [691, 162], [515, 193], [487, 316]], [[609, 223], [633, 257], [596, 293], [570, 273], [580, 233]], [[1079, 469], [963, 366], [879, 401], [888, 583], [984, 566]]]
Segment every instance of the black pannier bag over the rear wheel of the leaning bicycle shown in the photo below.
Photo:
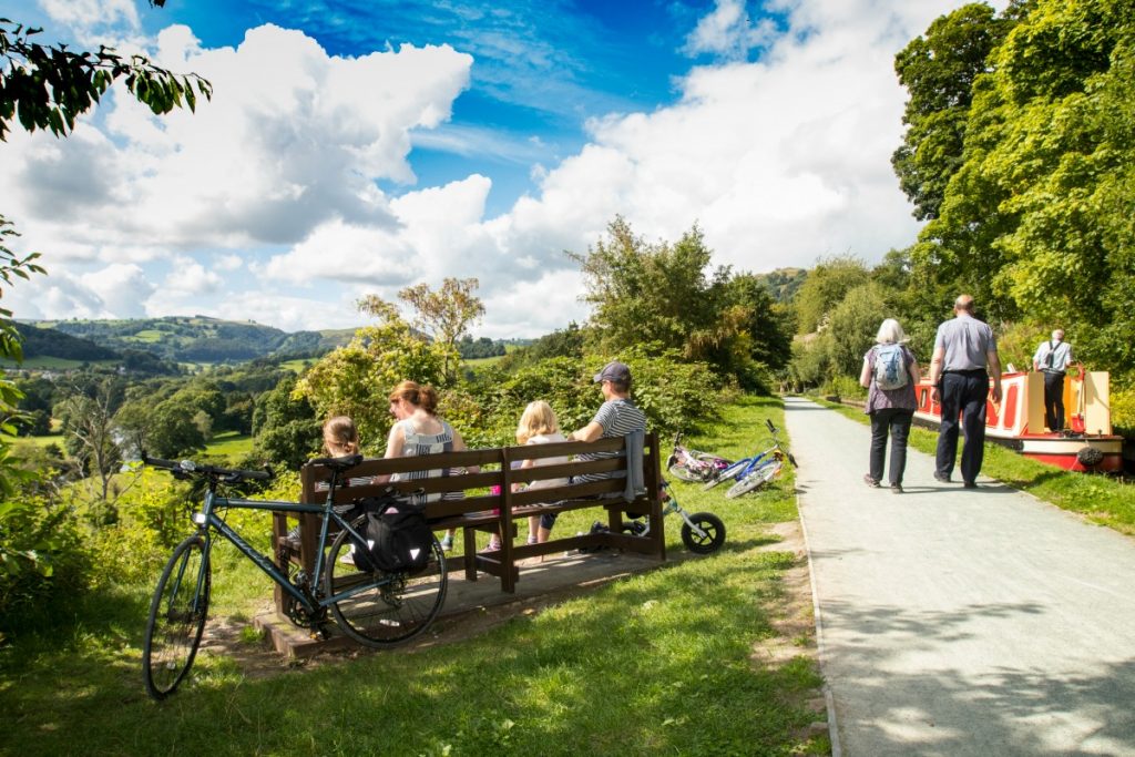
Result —
[[410, 497], [387, 489], [378, 497], [362, 497], [355, 505], [365, 514], [360, 535], [367, 541], [354, 540], [352, 560], [360, 571], [405, 571], [415, 573], [429, 563], [434, 531], [426, 522], [424, 508]]

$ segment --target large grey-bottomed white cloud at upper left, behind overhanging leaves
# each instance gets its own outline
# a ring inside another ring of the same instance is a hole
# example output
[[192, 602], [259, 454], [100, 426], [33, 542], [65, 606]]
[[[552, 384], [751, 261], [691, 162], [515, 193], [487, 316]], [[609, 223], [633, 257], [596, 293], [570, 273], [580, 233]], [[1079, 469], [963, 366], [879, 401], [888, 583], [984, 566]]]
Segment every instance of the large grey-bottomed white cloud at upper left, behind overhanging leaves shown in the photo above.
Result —
[[335, 217], [389, 225], [375, 180], [413, 180], [410, 133], [448, 117], [472, 62], [447, 47], [328, 57], [276, 26], [216, 50], [173, 26], [154, 59], [205, 76], [212, 101], [158, 119], [116, 93], [104, 127], [0, 146], [0, 179], [26, 187], [10, 213], [175, 250], [294, 243]]

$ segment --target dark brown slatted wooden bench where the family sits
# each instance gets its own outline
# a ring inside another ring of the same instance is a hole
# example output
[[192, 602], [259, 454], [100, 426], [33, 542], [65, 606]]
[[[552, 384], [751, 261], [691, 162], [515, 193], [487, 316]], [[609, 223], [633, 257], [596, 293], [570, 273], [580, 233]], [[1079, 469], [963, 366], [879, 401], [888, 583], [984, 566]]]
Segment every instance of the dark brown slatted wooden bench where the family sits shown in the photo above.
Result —
[[[548, 555], [566, 549], [587, 549], [606, 547], [622, 549], [666, 558], [665, 539], [662, 523], [661, 482], [662, 466], [658, 451], [658, 437], [655, 434], [646, 436], [642, 455], [642, 473], [646, 489], [632, 501], [623, 498], [628, 459], [625, 439], [599, 439], [592, 443], [563, 441], [557, 444], [528, 445], [522, 447], [494, 447], [488, 449], [470, 449], [466, 452], [447, 452], [436, 455], [413, 457], [395, 457], [390, 460], [367, 460], [351, 469], [347, 476], [352, 479], [407, 473], [411, 471], [448, 470], [451, 474], [398, 481], [390, 485], [347, 486], [335, 494], [338, 503], [347, 503], [359, 497], [375, 496], [393, 486], [400, 491], [424, 491], [429, 494], [449, 494], [449, 497], [437, 502], [427, 502], [426, 516], [435, 530], [457, 529], [462, 531], [460, 549], [454, 545], [453, 552], [446, 556], [449, 571], [464, 571], [465, 578], [476, 581], [478, 571], [501, 579], [501, 590], [515, 591], [520, 570], [518, 561], [529, 557]], [[526, 460], [540, 460], [581, 453], [609, 452], [617, 456], [602, 460], [571, 462], [558, 465], [537, 465], [520, 469]], [[470, 468], [479, 468], [480, 472], [465, 472]], [[586, 473], [612, 473], [620, 478], [605, 478], [598, 481], [577, 481], [566, 486], [549, 487], [537, 490], [512, 491], [514, 483], [530, 483], [546, 479], [574, 479]], [[321, 465], [306, 464], [301, 470], [303, 486], [302, 502], [323, 502], [326, 499], [326, 481], [330, 478], [329, 469]], [[493, 487], [499, 494], [491, 494]], [[461, 493], [461, 498], [454, 498]], [[544, 506], [541, 503], [555, 503]], [[515, 538], [518, 521], [523, 524], [521, 533], [527, 532], [529, 515], [543, 513], [562, 513], [571, 510], [600, 507], [606, 511], [608, 531], [564, 536], [562, 529], [553, 530], [552, 538], [544, 544], [513, 544], [512, 538], [503, 539], [502, 548], [490, 553], [477, 552], [477, 531], [499, 532]], [[493, 512], [496, 511], [496, 512]], [[650, 528], [645, 537], [622, 533], [621, 524], [624, 515], [647, 516]], [[311, 573], [316, 563], [316, 549], [319, 544], [319, 529], [322, 516], [301, 515], [300, 538], [289, 538], [292, 523], [284, 513], [274, 513], [272, 533], [277, 546], [276, 558], [280, 570], [289, 566], [302, 566]], [[284, 597], [277, 589], [276, 605], [283, 611]]]

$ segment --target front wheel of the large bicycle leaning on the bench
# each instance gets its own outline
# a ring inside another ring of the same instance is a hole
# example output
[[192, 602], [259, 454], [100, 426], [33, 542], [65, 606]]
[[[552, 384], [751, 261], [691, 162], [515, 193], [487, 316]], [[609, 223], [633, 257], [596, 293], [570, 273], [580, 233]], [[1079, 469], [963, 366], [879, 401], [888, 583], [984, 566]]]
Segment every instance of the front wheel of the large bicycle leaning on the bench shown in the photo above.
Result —
[[209, 613], [209, 590], [205, 542], [191, 536], [174, 549], [150, 603], [142, 673], [154, 699], [171, 695], [193, 666]]

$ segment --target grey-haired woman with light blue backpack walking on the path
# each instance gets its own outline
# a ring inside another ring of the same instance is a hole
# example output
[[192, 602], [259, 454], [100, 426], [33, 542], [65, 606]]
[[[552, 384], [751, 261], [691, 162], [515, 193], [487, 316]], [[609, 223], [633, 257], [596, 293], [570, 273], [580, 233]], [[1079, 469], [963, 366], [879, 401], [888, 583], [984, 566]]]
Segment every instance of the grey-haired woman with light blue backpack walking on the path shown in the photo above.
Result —
[[886, 437], [891, 437], [889, 465], [891, 491], [902, 494], [902, 471], [907, 466], [907, 437], [917, 402], [918, 361], [907, 348], [907, 335], [893, 318], [878, 327], [875, 346], [863, 358], [859, 384], [867, 387], [865, 412], [871, 415], [869, 470], [863, 480], [877, 488], [883, 480]]

